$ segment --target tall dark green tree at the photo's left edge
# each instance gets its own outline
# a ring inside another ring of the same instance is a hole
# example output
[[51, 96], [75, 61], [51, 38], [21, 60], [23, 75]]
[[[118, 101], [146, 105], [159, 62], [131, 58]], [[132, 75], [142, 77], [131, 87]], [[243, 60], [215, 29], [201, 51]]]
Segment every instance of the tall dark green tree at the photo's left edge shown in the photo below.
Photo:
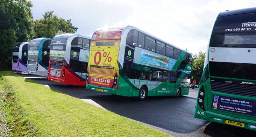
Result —
[[28, 41], [32, 36], [33, 5], [26, 0], [1, 0], [0, 2], [0, 70], [12, 66], [12, 48], [19, 41]]

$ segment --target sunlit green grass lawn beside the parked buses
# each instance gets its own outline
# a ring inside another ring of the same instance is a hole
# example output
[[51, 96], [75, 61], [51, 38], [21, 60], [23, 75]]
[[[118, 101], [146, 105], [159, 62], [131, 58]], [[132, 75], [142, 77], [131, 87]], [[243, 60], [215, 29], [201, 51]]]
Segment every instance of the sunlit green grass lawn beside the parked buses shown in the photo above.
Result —
[[2, 71], [26, 119], [38, 136], [160, 137], [169, 136], [110, 111]]

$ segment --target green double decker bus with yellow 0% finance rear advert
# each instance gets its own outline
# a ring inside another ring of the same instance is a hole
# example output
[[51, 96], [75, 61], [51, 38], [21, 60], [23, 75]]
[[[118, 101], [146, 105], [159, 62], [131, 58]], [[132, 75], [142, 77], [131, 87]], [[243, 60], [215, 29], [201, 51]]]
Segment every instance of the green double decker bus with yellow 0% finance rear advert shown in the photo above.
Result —
[[188, 95], [192, 55], [133, 26], [92, 36], [86, 89], [122, 96]]

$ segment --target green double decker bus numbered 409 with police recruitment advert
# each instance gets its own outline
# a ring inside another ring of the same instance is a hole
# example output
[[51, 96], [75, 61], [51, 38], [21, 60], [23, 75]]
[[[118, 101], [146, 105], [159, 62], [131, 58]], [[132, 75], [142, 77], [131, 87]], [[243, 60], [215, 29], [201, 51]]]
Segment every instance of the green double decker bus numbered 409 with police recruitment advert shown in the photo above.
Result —
[[256, 8], [221, 12], [212, 28], [194, 117], [256, 131]]

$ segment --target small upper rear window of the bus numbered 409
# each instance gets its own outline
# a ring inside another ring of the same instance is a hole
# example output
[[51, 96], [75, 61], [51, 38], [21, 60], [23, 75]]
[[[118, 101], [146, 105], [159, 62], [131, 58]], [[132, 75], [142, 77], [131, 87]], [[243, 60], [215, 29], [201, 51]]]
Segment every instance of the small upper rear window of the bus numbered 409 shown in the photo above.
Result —
[[223, 44], [256, 44], [256, 35], [225, 34]]

